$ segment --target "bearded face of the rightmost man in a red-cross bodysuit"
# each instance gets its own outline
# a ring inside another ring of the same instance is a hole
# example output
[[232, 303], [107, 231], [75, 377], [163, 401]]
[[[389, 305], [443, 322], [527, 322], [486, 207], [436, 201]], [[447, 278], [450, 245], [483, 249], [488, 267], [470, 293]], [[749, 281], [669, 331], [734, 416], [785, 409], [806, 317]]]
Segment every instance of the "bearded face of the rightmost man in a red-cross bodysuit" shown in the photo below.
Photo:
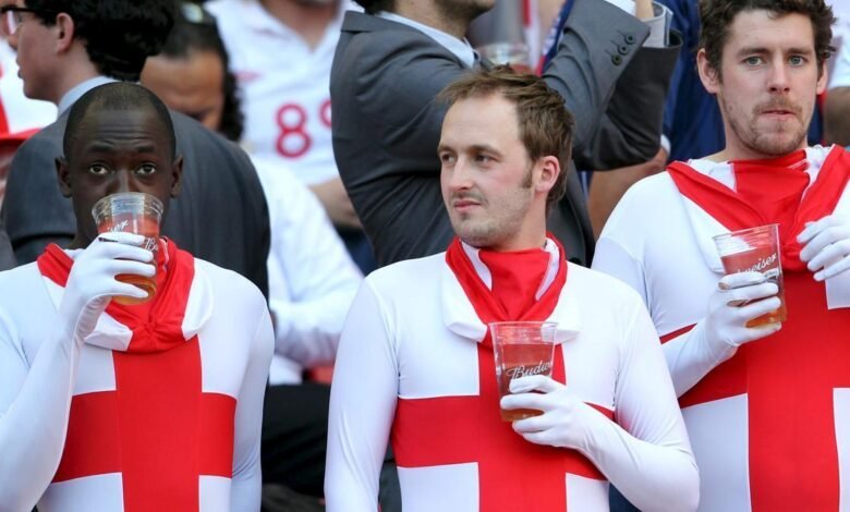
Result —
[[697, 54], [705, 88], [717, 95], [726, 130], [727, 159], [770, 158], [807, 145], [818, 75], [814, 29], [809, 17], [744, 11], [729, 27], [720, 73]]

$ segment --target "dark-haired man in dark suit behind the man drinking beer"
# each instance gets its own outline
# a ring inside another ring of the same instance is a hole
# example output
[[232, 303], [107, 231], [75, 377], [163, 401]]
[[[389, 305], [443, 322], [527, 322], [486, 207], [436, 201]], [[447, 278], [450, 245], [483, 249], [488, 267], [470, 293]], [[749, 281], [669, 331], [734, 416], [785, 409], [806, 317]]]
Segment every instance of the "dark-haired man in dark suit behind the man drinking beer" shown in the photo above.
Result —
[[[24, 93], [59, 107], [57, 122], [21, 146], [9, 174], [2, 218], [23, 264], [50, 242], [66, 245], [76, 232], [54, 171], [69, 107], [106, 82], [137, 82], [174, 16], [169, 0], [27, 0], [2, 9], [12, 12], [5, 29], [19, 52]], [[267, 294], [268, 211], [251, 161], [194, 120], [177, 112], [171, 117], [177, 150], [186, 164], [183, 193], [171, 205], [163, 234], [197, 257], [243, 275]]]

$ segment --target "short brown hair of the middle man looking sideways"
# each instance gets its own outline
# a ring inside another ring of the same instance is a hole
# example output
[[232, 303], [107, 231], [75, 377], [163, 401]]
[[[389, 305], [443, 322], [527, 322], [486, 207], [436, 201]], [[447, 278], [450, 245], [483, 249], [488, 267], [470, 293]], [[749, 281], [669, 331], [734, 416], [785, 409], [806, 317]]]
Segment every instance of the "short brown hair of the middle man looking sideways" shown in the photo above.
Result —
[[563, 98], [537, 75], [520, 73], [509, 65], [476, 70], [452, 82], [438, 96], [448, 107], [471, 98], [499, 94], [517, 108], [520, 141], [531, 161], [546, 156], [558, 158], [561, 171], [546, 197], [549, 214], [567, 191], [567, 171], [572, 153], [572, 114]]

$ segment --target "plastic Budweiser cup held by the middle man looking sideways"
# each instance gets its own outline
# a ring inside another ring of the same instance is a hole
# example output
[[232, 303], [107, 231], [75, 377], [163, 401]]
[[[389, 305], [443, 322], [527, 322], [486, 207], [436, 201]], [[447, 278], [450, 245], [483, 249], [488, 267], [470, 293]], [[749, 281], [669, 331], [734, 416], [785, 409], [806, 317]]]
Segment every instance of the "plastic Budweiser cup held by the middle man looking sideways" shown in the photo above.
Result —
[[[499, 399], [510, 394], [513, 379], [530, 375], [551, 377], [557, 326], [554, 321], [496, 321], [489, 325]], [[500, 412], [505, 422], [542, 414], [530, 409]]]

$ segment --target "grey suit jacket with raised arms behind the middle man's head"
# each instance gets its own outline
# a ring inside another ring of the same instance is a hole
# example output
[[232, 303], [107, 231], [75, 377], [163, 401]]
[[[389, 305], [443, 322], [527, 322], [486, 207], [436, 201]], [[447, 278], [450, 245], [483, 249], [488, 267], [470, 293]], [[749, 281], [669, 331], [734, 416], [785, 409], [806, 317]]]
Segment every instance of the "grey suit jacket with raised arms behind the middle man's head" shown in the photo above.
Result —
[[[657, 153], [678, 47], [642, 48], [648, 32], [608, 2], [575, 0], [544, 78], [575, 118], [580, 168], [611, 169]], [[330, 74], [333, 154], [379, 265], [439, 253], [453, 236], [437, 158], [446, 107], [435, 98], [465, 71], [420, 31], [345, 13]], [[593, 232], [570, 167], [549, 229], [571, 260], [590, 265]]]

